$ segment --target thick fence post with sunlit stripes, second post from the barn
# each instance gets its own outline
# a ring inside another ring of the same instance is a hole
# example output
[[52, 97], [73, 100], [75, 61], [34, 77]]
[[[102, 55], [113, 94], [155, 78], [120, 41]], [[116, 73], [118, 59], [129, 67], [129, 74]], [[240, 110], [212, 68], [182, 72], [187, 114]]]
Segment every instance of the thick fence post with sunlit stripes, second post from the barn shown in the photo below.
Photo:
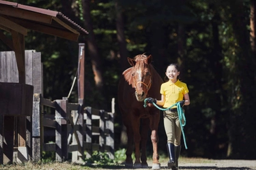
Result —
[[68, 159], [68, 127], [67, 127], [67, 103], [66, 99], [56, 100], [55, 110], [55, 143], [56, 143], [56, 161]]

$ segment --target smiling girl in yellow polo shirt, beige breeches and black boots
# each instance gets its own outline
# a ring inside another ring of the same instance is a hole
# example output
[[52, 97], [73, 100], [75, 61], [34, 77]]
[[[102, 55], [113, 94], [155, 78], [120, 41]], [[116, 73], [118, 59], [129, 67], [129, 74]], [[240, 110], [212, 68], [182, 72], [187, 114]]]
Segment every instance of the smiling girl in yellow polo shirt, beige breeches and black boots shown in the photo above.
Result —
[[[166, 76], [169, 79], [161, 85], [160, 94], [161, 100], [158, 101], [152, 97], [147, 98], [148, 103], [156, 103], [164, 108], [179, 102], [181, 106], [189, 105], [188, 87], [184, 82], [180, 82], [178, 75], [180, 75], [179, 68], [176, 64], [171, 64], [167, 67]], [[167, 134], [167, 151], [169, 154], [168, 168], [178, 169], [178, 158], [180, 156], [180, 139], [182, 136], [182, 129], [180, 126], [179, 116], [177, 114], [177, 107], [173, 106], [164, 111], [164, 125]], [[182, 122], [184, 123], [184, 122]]]

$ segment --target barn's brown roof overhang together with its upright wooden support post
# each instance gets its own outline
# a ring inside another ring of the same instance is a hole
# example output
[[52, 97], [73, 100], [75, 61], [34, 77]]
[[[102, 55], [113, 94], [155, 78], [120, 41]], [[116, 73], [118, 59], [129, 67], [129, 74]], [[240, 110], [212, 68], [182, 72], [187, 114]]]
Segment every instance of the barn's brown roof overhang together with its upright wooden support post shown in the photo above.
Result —
[[0, 0], [0, 39], [14, 50], [19, 82], [25, 84], [25, 36], [29, 30], [78, 41], [88, 32], [60, 12]]

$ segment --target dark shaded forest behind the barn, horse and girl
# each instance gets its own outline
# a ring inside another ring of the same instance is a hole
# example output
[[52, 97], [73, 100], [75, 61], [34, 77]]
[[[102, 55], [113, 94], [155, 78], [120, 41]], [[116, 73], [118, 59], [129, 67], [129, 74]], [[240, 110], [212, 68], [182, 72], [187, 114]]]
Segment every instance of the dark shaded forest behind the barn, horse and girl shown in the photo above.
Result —
[[[178, 63], [190, 90], [184, 127], [188, 150], [182, 155], [256, 159], [255, 0], [13, 2], [61, 12], [89, 32], [77, 42], [33, 31], [25, 37], [25, 49], [42, 55], [44, 98], [68, 96], [79, 43], [85, 43], [85, 103], [110, 112], [122, 71], [130, 67], [127, 57], [152, 54], [163, 79], [167, 66]], [[0, 43], [0, 51], [8, 50]], [[74, 88], [69, 100], [77, 98]], [[122, 133], [116, 103], [115, 150], [126, 144]], [[165, 153], [162, 118], [158, 135]], [[150, 143], [147, 151], [152, 152]]]

